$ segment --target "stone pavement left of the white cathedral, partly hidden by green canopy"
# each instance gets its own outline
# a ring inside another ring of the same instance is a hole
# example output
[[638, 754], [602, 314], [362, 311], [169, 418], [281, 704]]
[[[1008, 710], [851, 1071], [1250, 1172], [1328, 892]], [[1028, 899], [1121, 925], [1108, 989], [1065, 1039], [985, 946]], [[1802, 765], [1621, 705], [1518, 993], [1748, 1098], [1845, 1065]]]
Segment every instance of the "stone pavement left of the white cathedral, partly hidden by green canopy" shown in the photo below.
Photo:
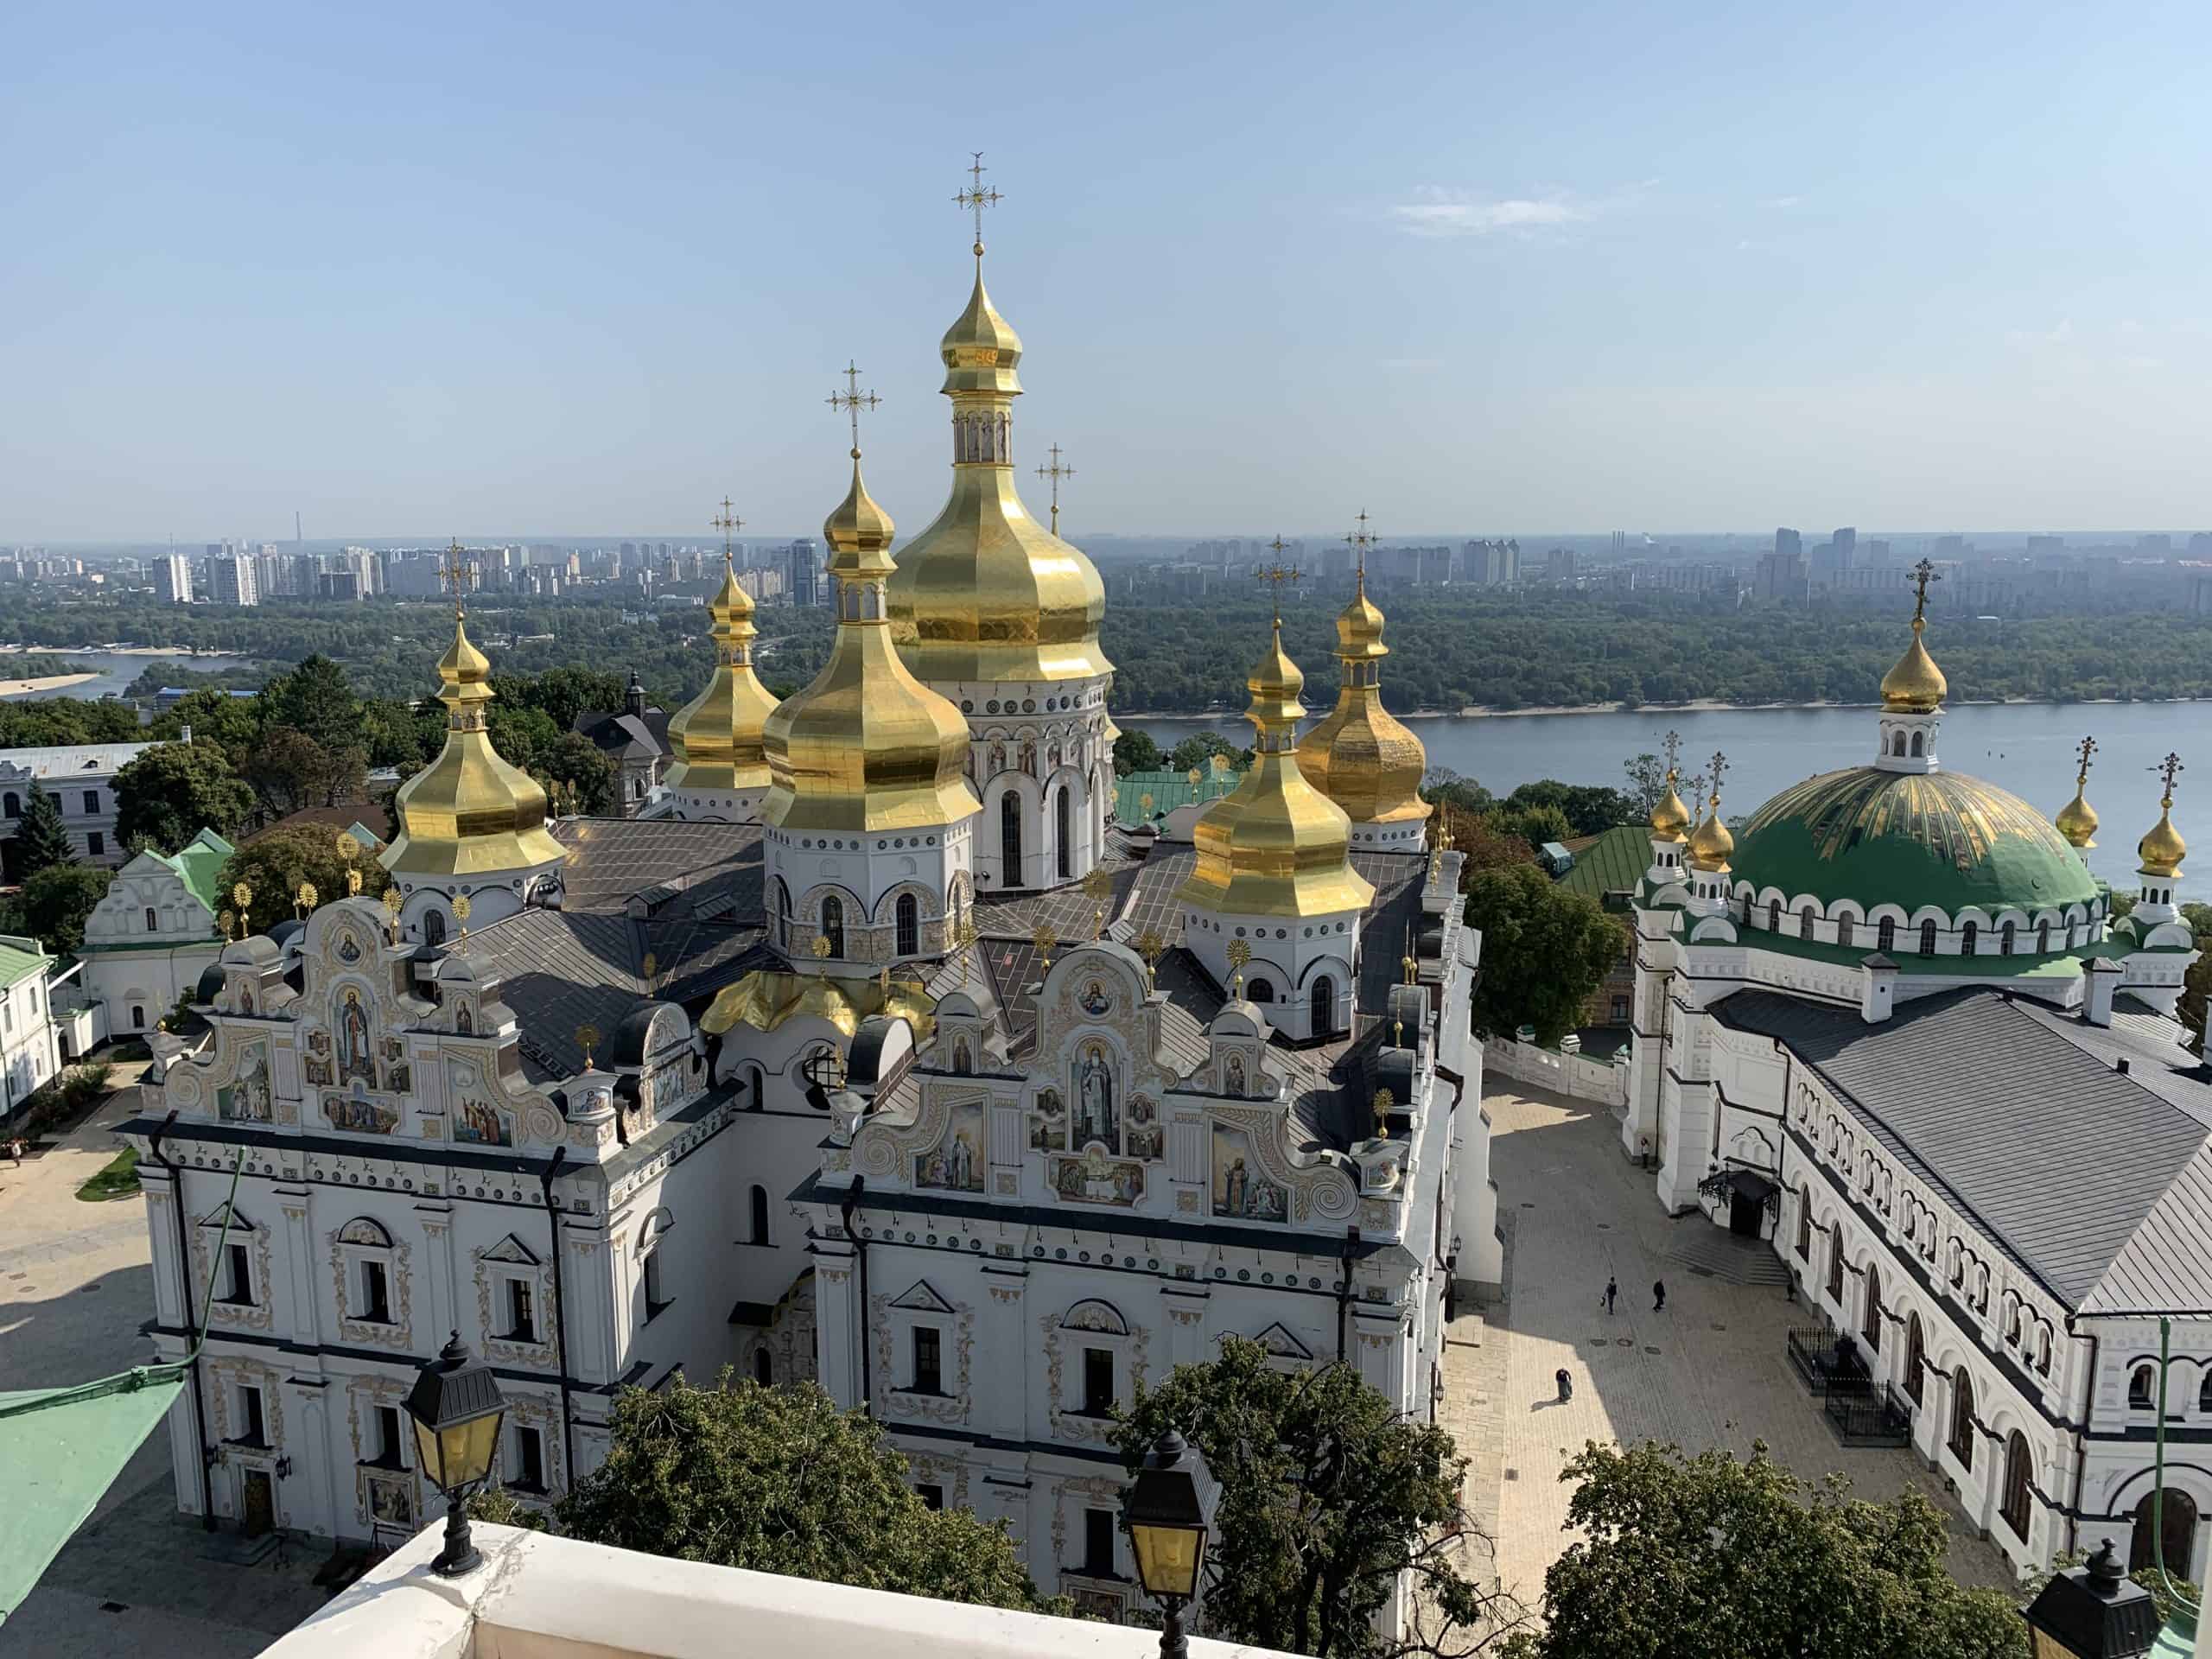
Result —
[[[117, 1066], [111, 1082], [135, 1079]], [[84, 1203], [77, 1186], [122, 1144], [137, 1110], [128, 1082], [22, 1168], [0, 1161], [0, 1391], [86, 1383], [153, 1358], [146, 1199]], [[0, 1659], [232, 1659], [261, 1652], [323, 1606], [307, 1579], [321, 1557], [285, 1566], [221, 1559], [226, 1533], [177, 1513], [168, 1433], [155, 1429], [0, 1624]]]

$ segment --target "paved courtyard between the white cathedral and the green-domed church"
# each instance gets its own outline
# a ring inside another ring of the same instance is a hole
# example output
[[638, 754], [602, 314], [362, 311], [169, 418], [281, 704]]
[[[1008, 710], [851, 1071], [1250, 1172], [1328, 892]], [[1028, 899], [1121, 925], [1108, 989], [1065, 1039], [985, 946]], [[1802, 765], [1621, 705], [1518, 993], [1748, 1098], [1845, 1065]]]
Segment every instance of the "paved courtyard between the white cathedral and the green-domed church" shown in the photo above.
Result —
[[[1491, 1175], [1506, 1228], [1506, 1298], [1462, 1312], [1444, 1358], [1442, 1422], [1473, 1464], [1471, 1517], [1502, 1537], [1498, 1579], [1537, 1606], [1544, 1571], [1573, 1535], [1559, 1482], [1586, 1440], [1670, 1440], [1686, 1451], [1754, 1440], [1818, 1480], [1851, 1478], [1863, 1498], [1920, 1486], [1951, 1517], [1951, 1571], [1966, 1584], [2011, 1590], [2004, 1557], [1973, 1528], [1911, 1451], [1849, 1449], [1829, 1433], [1783, 1338], [1816, 1323], [1774, 1285], [1732, 1285], [1670, 1259], [1699, 1217], [1670, 1221], [1650, 1175], [1619, 1155], [1613, 1113], [1590, 1102], [1500, 1079], [1491, 1115]], [[1606, 1274], [1619, 1279], [1608, 1318]], [[1652, 1281], [1666, 1312], [1652, 1312]], [[1557, 1405], [1566, 1367], [1575, 1398]], [[1478, 1571], [1469, 1562], [1469, 1571]]]

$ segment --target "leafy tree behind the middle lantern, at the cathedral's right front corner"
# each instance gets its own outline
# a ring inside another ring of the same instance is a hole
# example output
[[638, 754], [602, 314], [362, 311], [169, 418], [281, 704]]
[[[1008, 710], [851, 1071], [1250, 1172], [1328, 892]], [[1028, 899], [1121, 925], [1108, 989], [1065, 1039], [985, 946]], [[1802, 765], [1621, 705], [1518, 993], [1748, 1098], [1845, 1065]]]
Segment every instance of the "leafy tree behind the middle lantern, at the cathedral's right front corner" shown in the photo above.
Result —
[[[1221, 1358], [1177, 1365], [1115, 1429], [1137, 1471], [1168, 1429], [1221, 1482], [1208, 1546], [1206, 1626], [1230, 1641], [1380, 1659], [1467, 1655], [1511, 1624], [1511, 1608], [1467, 1579], [1455, 1555], [1467, 1458], [1431, 1422], [1411, 1422], [1347, 1365], [1281, 1371], [1241, 1336]], [[1427, 1610], [1420, 1641], [1385, 1644], [1374, 1615], [1411, 1575]]]

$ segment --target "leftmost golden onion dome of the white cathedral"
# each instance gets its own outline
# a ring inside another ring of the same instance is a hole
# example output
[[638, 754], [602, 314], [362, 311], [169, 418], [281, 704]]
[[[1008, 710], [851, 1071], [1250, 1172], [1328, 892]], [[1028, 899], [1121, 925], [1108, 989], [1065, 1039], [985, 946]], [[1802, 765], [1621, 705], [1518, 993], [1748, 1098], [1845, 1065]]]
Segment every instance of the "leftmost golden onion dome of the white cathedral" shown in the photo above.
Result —
[[400, 787], [394, 799], [400, 832], [376, 860], [396, 876], [480, 876], [566, 858], [544, 827], [546, 792], [491, 748], [484, 730], [491, 661], [458, 617], [438, 679], [445, 748]]

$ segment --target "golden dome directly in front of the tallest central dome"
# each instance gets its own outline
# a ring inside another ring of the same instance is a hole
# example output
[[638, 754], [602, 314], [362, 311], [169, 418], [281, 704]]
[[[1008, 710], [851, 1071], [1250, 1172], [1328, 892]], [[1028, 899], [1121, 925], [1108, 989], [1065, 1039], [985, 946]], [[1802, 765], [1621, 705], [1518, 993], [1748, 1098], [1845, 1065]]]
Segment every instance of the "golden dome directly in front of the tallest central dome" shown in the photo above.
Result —
[[761, 728], [774, 779], [761, 816], [785, 834], [947, 827], [980, 812], [964, 776], [967, 721], [891, 644], [891, 515], [860, 480], [856, 438], [852, 489], [823, 522], [836, 584], [830, 661]]

